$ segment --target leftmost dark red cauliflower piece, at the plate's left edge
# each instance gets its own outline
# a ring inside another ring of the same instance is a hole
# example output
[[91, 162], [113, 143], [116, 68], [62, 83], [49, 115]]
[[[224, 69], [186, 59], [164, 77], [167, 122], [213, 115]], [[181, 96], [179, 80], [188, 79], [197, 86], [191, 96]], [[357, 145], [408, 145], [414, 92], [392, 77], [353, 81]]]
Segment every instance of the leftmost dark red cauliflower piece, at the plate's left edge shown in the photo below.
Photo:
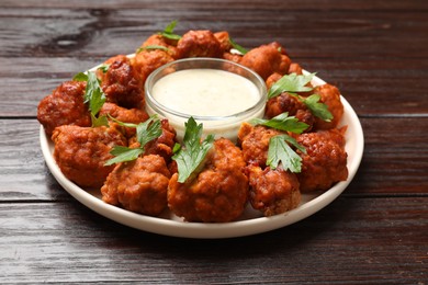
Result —
[[42, 99], [37, 107], [37, 119], [47, 136], [50, 137], [57, 126], [91, 126], [91, 116], [83, 103], [86, 82], [67, 81]]

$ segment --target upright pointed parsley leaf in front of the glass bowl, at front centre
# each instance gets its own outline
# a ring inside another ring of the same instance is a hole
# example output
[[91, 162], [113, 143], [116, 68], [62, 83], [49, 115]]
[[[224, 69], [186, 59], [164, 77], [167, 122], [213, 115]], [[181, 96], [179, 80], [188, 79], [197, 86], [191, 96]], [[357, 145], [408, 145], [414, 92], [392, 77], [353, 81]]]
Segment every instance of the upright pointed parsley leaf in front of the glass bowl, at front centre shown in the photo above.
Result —
[[172, 159], [178, 166], [178, 182], [184, 183], [192, 174], [198, 172], [206, 153], [213, 147], [214, 136], [209, 135], [202, 142], [202, 124], [196, 124], [193, 117], [184, 124], [185, 133], [183, 147], [174, 146], [176, 153]]

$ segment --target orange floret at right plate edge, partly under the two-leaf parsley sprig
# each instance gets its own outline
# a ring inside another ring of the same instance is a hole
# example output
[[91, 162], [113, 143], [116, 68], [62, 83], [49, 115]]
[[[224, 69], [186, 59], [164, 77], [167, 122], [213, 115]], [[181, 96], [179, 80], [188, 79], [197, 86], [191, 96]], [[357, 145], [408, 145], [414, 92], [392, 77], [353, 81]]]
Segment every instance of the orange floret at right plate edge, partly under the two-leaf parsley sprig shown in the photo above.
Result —
[[335, 86], [323, 84], [314, 89], [314, 94], [319, 94], [319, 102], [327, 105], [328, 111], [333, 115], [331, 122], [323, 121], [318, 117], [315, 119], [315, 129], [330, 129], [339, 125], [340, 119], [343, 115], [343, 105], [340, 101], [340, 91]]

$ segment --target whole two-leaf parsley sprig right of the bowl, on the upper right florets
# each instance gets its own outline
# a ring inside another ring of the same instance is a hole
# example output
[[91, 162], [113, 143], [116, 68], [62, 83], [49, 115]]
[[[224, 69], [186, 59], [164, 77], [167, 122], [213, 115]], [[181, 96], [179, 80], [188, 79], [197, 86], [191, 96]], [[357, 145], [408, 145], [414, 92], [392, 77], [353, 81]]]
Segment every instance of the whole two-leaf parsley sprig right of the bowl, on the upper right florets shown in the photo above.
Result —
[[326, 104], [320, 103], [320, 96], [318, 94], [312, 94], [308, 98], [303, 98], [296, 92], [309, 92], [314, 89], [312, 87], [307, 87], [306, 84], [311, 82], [316, 73], [309, 75], [285, 75], [272, 87], [268, 92], [268, 100], [280, 95], [283, 92], [288, 92], [290, 95], [296, 96], [301, 102], [303, 102], [307, 109], [317, 117], [330, 122], [333, 119], [333, 114], [328, 111]]

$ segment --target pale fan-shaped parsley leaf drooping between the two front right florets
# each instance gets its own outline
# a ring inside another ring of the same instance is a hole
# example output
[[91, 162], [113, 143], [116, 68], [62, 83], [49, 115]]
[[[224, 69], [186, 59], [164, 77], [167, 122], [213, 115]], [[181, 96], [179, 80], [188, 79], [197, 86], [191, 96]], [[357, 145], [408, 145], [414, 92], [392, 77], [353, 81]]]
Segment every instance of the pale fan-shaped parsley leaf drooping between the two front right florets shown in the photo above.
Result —
[[289, 135], [274, 136], [269, 140], [267, 166], [277, 169], [281, 163], [283, 170], [291, 172], [302, 171], [302, 158], [289, 146], [289, 144], [306, 153], [306, 149]]

